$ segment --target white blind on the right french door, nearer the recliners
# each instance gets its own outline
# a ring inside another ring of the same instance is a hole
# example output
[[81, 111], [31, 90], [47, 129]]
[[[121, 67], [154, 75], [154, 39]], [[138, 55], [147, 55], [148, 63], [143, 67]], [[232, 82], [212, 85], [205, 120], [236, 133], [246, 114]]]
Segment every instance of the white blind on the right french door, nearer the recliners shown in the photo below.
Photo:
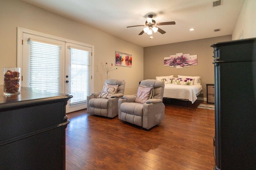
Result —
[[70, 105], [86, 102], [90, 94], [90, 70], [91, 57], [90, 51], [68, 47], [70, 49]]

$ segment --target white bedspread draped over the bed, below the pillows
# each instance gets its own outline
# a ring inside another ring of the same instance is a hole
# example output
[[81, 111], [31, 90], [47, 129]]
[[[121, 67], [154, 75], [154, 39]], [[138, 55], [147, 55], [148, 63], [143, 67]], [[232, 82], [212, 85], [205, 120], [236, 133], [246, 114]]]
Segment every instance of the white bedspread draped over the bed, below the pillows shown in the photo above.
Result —
[[179, 85], [164, 84], [164, 98], [185, 99], [192, 102], [196, 101], [197, 95], [202, 93], [201, 85]]

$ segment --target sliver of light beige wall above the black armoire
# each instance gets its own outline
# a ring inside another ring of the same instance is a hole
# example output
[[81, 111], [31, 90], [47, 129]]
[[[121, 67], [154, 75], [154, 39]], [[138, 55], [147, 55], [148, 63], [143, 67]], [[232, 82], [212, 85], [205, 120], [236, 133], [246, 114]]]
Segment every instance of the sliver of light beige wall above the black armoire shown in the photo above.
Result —
[[244, 0], [244, 5], [232, 33], [232, 40], [256, 37], [256, 0]]

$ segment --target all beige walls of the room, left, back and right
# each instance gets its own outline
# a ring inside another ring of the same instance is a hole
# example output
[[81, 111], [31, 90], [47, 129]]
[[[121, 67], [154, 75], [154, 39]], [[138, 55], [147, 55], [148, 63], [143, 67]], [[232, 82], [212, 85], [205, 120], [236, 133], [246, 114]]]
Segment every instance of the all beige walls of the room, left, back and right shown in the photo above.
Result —
[[[101, 91], [106, 74], [101, 63], [114, 63], [115, 51], [132, 54], [132, 67], [117, 66], [109, 73], [109, 78], [126, 81], [125, 94], [135, 94], [138, 82], [155, 76], [191, 75], [201, 76], [206, 98], [206, 83], [214, 82], [212, 48], [210, 44], [236, 39], [241, 31], [244, 38], [256, 37], [256, 1], [245, 0], [240, 16], [231, 35], [199, 39], [181, 43], [145, 47], [124, 41], [92, 27], [69, 20], [20, 0], [0, 0], [0, 70], [16, 66], [17, 27], [31, 29], [66, 39], [94, 45], [94, 91]], [[198, 65], [183, 69], [163, 66], [164, 57], [176, 53], [198, 55]], [[144, 57], [143, 57], [144, 56]], [[0, 74], [0, 84], [3, 75]]]

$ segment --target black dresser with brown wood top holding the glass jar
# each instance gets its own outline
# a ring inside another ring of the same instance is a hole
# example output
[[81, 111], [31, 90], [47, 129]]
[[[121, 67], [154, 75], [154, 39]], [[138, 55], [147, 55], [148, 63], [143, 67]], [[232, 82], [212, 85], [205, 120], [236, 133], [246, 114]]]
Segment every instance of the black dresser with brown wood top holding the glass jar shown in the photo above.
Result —
[[0, 86], [0, 169], [63, 170], [69, 94], [21, 87], [4, 96]]

